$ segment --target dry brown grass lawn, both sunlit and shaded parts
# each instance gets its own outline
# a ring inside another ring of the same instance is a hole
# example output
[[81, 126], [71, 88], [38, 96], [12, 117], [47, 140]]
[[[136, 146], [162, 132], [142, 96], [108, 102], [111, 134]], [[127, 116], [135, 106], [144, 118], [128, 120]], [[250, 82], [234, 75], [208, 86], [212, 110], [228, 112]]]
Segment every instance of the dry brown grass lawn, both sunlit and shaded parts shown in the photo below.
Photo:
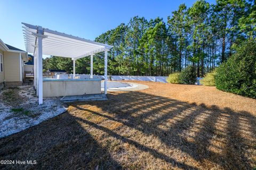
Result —
[[256, 100], [214, 87], [156, 82], [110, 92], [0, 140], [0, 158], [27, 169], [253, 169]]

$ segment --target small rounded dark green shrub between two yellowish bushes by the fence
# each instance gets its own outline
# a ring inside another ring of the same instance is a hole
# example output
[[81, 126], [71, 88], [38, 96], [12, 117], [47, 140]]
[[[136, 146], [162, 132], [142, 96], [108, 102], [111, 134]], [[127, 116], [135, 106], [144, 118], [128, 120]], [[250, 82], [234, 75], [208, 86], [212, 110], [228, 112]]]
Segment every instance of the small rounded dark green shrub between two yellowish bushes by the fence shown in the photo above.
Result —
[[179, 82], [182, 84], [195, 84], [196, 83], [196, 69], [194, 66], [189, 65], [183, 69], [179, 75]]

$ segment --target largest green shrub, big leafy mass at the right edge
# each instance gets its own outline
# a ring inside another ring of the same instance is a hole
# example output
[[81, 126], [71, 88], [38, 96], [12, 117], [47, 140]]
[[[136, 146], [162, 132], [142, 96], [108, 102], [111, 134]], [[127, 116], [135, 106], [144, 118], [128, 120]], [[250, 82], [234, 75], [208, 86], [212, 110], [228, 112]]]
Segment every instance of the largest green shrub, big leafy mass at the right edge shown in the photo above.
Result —
[[215, 75], [216, 87], [234, 94], [256, 98], [256, 42], [249, 39], [226, 63], [221, 64]]

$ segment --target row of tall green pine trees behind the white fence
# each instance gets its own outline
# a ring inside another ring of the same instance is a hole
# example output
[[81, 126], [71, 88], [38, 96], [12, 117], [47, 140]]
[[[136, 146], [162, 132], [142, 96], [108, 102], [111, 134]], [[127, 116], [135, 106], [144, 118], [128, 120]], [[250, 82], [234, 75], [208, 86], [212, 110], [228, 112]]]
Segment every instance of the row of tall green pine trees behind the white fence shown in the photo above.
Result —
[[[255, 0], [217, 0], [209, 4], [196, 1], [191, 7], [181, 4], [164, 22], [134, 16], [95, 38], [114, 46], [108, 52], [110, 75], [169, 75], [188, 65], [203, 77], [225, 62], [237, 46], [256, 37]], [[94, 56], [93, 72], [103, 74], [104, 54]], [[43, 61], [44, 69], [71, 73], [70, 58], [52, 56]], [[90, 57], [77, 60], [76, 72], [90, 73]]]

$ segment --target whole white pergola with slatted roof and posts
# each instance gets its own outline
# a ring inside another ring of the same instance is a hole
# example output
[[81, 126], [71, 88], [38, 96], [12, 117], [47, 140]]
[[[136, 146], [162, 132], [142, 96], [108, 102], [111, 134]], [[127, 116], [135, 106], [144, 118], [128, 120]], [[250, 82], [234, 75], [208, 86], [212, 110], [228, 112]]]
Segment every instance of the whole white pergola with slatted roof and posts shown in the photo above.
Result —
[[[25, 46], [28, 53], [34, 54], [34, 87], [38, 103], [43, 104], [43, 55], [69, 57], [73, 60], [73, 78], [75, 62], [79, 58], [91, 56], [91, 78], [93, 78], [93, 55], [105, 52], [105, 94], [107, 94], [107, 52], [113, 46], [79, 38], [66, 33], [53, 31], [37, 25], [22, 23]], [[74, 87], [75, 88], [75, 87]]]

